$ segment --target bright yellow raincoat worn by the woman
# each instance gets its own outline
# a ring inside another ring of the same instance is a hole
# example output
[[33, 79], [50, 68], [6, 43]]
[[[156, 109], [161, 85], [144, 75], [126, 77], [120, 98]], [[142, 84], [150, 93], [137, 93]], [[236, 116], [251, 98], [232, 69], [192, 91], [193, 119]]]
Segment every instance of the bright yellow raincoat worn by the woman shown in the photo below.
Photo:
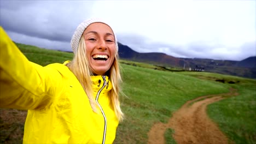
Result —
[[91, 76], [98, 113], [64, 64], [28, 61], [0, 27], [0, 107], [28, 110], [24, 143], [112, 143], [118, 118], [107, 76]]

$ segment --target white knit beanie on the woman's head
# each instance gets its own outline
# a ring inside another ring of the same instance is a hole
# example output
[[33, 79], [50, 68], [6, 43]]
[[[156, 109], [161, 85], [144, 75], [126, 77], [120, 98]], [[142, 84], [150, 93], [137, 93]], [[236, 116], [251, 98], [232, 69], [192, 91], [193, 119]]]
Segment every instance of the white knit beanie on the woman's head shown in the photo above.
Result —
[[[101, 19], [98, 19], [98, 18], [88, 19], [88, 20], [85, 20], [82, 23], [80, 23], [78, 25], [77, 29], [75, 29], [75, 32], [71, 38], [71, 47], [72, 47], [72, 50], [74, 53], [77, 53], [79, 41], [80, 41], [82, 34], [83, 34], [84, 30], [86, 29], [86, 27], [88, 27], [91, 23], [95, 23], [95, 22], [101, 22], [101, 23], [108, 25], [107, 22], [105, 22]], [[112, 27], [110, 27], [110, 28], [113, 31], [113, 28]], [[114, 31], [113, 31], [113, 33], [114, 33]], [[114, 37], [115, 37], [115, 47], [118, 51], [118, 42], [117, 42], [117, 37], [116, 37], [115, 33], [114, 33]]]

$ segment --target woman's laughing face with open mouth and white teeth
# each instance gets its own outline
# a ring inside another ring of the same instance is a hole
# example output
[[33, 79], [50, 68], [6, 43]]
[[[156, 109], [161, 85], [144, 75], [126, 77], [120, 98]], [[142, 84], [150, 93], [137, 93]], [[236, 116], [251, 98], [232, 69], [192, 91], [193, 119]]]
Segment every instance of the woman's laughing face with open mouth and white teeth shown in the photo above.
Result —
[[83, 37], [92, 72], [104, 75], [110, 69], [117, 51], [112, 29], [104, 23], [91, 23], [85, 29]]

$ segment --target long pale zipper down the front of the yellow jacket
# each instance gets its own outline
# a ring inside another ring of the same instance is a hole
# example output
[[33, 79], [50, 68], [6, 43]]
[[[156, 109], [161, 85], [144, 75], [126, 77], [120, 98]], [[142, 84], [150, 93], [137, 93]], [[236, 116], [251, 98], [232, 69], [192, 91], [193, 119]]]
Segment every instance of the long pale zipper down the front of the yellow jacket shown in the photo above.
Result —
[[107, 133], [107, 118], [106, 118], [106, 115], [105, 115], [100, 103], [98, 103], [98, 97], [100, 97], [100, 93], [101, 93], [102, 89], [106, 86], [106, 76], [102, 76], [102, 78], [104, 80], [104, 83], [103, 83], [103, 86], [101, 87], [101, 89], [98, 91], [98, 93], [96, 95], [96, 103], [98, 104], [98, 107], [100, 107], [101, 113], [104, 117], [104, 131], [103, 131], [103, 140], [102, 140], [102, 144], [104, 144], [105, 140], [106, 140], [106, 133]]

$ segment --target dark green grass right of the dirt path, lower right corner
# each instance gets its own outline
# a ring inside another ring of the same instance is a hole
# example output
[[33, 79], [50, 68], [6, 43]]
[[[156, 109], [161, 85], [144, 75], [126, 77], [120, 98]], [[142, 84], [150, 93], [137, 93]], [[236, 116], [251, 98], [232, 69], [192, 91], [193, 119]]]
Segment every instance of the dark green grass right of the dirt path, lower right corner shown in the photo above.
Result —
[[234, 86], [240, 95], [208, 106], [220, 129], [236, 143], [256, 143], [256, 82]]

